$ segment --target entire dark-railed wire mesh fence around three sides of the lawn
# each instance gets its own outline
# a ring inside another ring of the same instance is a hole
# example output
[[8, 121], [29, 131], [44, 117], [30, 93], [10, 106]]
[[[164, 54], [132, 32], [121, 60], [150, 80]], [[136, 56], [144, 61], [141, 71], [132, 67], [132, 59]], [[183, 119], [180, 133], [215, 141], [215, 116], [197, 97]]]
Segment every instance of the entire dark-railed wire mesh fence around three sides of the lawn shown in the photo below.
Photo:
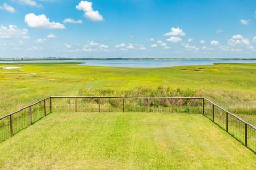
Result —
[[202, 97], [52, 96], [0, 118], [0, 142], [52, 111], [166, 112], [203, 114], [256, 152], [256, 128]]

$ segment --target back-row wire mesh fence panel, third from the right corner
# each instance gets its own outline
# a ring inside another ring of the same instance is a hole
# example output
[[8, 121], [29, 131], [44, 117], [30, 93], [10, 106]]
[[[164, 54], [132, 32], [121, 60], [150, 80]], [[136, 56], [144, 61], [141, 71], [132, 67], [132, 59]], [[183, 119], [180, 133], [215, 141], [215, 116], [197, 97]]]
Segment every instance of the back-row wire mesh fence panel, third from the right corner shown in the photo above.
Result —
[[126, 98], [125, 112], [147, 112], [148, 100], [147, 98]]

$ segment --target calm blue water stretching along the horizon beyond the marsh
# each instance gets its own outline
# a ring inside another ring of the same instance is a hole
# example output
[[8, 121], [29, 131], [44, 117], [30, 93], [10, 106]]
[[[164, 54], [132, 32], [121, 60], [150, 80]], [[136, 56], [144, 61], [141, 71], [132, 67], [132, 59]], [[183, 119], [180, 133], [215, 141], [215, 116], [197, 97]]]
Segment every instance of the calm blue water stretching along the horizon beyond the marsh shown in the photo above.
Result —
[[131, 68], [157, 68], [157, 67], [172, 67], [181, 65], [212, 65], [213, 63], [256, 63], [256, 60], [234, 60], [234, 59], [188, 59], [188, 60], [29, 60], [29, 61], [0, 61], [0, 63], [67, 63], [79, 62], [87, 66], [107, 66], [107, 67], [131, 67]]

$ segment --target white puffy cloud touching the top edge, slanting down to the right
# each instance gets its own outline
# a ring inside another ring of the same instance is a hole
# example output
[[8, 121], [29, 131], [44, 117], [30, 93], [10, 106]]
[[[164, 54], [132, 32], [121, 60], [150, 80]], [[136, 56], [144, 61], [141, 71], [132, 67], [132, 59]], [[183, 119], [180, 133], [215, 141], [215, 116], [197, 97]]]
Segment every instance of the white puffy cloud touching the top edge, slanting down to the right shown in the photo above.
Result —
[[99, 11], [94, 11], [92, 8], [92, 2], [88, 1], [80, 1], [78, 5], [76, 5], [77, 10], [83, 10], [84, 17], [91, 21], [103, 21], [103, 17], [100, 15]]

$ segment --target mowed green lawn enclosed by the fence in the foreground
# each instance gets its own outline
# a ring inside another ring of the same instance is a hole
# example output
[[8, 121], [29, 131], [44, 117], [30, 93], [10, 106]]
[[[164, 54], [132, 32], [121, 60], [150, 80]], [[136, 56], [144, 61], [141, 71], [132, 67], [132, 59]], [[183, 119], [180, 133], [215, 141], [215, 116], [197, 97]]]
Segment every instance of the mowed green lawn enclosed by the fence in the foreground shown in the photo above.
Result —
[[199, 114], [53, 112], [0, 150], [0, 169], [256, 169]]

